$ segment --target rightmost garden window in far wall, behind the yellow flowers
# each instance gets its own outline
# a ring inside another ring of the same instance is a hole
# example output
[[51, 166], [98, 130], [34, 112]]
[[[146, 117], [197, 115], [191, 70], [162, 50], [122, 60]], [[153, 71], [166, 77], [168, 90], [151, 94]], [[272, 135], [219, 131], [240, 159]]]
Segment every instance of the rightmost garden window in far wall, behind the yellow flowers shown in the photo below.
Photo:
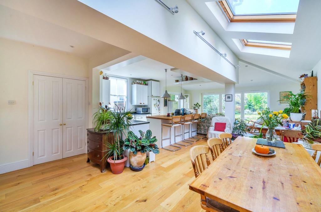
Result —
[[257, 111], [267, 107], [267, 96], [267, 92], [244, 93], [244, 118], [257, 120]]

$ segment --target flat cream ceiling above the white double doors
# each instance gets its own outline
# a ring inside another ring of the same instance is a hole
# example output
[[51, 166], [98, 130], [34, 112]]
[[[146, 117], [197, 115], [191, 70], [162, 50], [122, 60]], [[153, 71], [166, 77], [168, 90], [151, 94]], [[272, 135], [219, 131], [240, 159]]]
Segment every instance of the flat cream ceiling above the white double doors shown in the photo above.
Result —
[[[61, 50], [85, 58], [90, 58], [106, 49], [118, 48], [3, 5], [0, 5], [0, 37]], [[74, 48], [69, 47], [70, 45]]]

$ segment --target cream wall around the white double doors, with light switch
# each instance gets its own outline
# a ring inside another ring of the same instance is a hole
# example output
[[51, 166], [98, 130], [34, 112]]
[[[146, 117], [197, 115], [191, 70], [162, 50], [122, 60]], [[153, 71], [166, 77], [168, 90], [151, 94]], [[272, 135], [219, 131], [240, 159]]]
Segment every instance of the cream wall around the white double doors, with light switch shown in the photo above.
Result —
[[87, 59], [69, 53], [2, 38], [0, 46], [1, 166], [28, 159], [28, 71], [86, 78], [89, 72]]

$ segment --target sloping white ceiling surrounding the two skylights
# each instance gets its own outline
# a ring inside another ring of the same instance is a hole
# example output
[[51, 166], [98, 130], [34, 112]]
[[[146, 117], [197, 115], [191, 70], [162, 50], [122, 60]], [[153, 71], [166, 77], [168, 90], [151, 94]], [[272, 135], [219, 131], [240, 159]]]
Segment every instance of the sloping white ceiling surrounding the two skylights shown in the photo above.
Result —
[[[311, 71], [314, 65], [321, 59], [320, 0], [300, 0], [293, 34], [225, 31], [206, 6], [205, 2], [209, 2], [209, 0], [186, 1], [221, 37], [234, 54], [244, 61], [291, 76], [292, 78], [298, 78], [300, 74]], [[206, 39], [206, 34], [204, 38]], [[241, 52], [232, 41], [232, 38], [290, 42], [292, 43], [290, 58]]]

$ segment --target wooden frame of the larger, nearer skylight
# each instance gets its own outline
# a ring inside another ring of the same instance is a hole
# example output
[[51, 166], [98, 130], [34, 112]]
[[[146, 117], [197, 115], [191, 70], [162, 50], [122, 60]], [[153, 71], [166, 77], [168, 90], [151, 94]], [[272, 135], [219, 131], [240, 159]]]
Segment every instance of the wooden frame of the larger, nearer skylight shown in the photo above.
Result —
[[297, 14], [233, 15], [226, 0], [218, 1], [229, 22], [295, 22]]

